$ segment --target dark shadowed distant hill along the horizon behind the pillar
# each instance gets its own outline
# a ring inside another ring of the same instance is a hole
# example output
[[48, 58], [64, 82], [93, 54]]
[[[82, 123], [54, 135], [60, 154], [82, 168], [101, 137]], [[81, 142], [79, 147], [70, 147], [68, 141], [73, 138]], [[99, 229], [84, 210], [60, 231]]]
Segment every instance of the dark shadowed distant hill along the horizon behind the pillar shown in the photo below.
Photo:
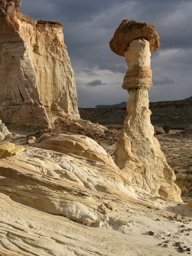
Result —
[[[192, 125], [192, 96], [184, 100], [169, 100], [149, 103], [151, 123], [163, 126], [169, 122], [173, 128]], [[100, 125], [123, 125], [127, 116], [126, 103], [98, 105], [95, 108], [79, 108], [82, 119], [98, 122]]]

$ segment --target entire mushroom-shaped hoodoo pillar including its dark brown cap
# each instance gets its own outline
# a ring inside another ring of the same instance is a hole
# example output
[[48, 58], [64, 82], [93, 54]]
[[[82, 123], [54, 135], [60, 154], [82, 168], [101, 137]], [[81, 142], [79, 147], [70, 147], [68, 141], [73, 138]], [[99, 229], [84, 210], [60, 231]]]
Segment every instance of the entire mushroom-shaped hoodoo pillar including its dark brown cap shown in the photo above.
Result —
[[[121, 40], [122, 39], [122, 40]], [[182, 201], [174, 184], [175, 174], [167, 164], [158, 140], [153, 137], [148, 89], [152, 85], [151, 51], [160, 43], [156, 28], [139, 21], [122, 21], [110, 41], [111, 50], [126, 58], [129, 69], [122, 83], [130, 97], [122, 136], [114, 152], [115, 162], [136, 186], [153, 195]], [[127, 48], [126, 48], [127, 47]]]

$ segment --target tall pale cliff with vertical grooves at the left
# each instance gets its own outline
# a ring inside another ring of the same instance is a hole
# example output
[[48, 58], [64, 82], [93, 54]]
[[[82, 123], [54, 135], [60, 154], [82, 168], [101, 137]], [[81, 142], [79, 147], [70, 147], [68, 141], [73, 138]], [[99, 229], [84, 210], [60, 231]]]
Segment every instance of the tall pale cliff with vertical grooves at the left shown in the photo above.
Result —
[[21, 14], [20, 3], [0, 1], [0, 118], [36, 127], [52, 127], [57, 116], [78, 120], [63, 25]]

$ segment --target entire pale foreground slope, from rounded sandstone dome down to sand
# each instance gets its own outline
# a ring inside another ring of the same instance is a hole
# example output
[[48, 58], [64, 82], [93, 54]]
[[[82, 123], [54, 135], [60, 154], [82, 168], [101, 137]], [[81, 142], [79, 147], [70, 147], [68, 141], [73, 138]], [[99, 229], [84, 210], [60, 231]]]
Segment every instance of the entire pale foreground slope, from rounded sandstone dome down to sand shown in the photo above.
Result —
[[178, 239], [191, 246], [190, 202], [187, 208], [134, 188], [84, 137], [43, 134], [34, 147], [0, 159], [0, 254], [158, 256], [165, 239], [171, 255]]

